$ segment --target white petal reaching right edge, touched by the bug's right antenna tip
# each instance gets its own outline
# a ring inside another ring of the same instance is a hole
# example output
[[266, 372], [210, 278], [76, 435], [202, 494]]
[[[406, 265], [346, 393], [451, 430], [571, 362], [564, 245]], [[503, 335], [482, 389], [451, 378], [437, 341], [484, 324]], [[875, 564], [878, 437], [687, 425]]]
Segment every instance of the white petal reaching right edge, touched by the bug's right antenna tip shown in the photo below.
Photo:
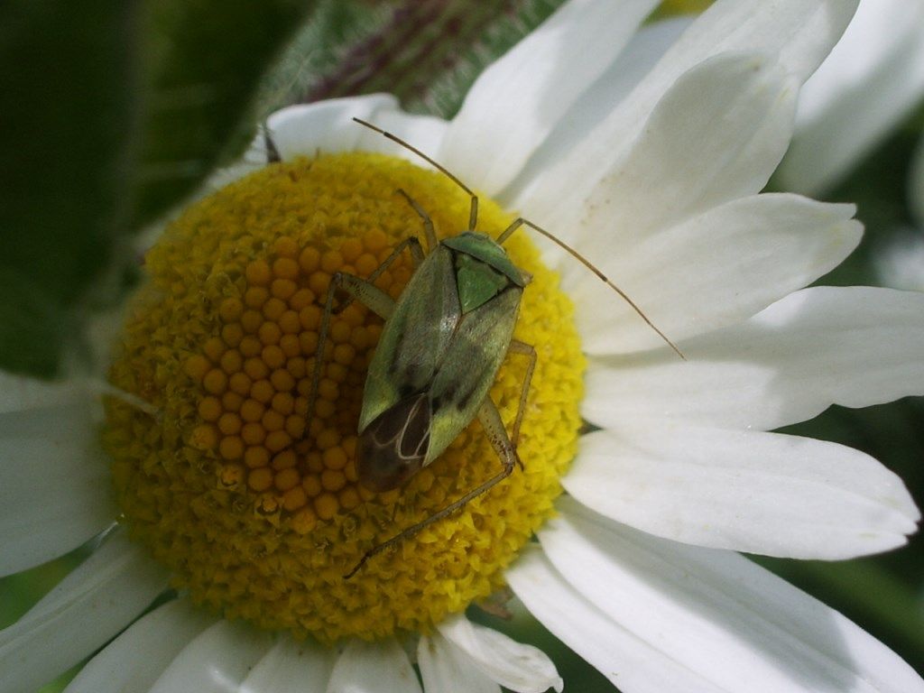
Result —
[[767, 431], [832, 404], [869, 407], [924, 392], [924, 294], [816, 286], [740, 325], [681, 344], [591, 359], [586, 419], [686, 419]]

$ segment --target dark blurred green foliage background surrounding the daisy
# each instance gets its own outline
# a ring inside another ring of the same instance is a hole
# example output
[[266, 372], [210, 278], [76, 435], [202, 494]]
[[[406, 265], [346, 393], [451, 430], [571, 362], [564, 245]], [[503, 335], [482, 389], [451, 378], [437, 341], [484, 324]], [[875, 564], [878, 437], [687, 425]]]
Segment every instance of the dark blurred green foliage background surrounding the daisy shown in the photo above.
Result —
[[[455, 113], [491, 60], [561, 0], [162, 0], [0, 9], [0, 368], [51, 377], [91, 359], [84, 325], [135, 281], [132, 238], [232, 162], [254, 124], [288, 103], [371, 91], [414, 112]], [[664, 3], [659, 16], [704, 2]], [[14, 69], [8, 66], [16, 66]], [[890, 284], [877, 258], [922, 233], [906, 200], [924, 105], [824, 196], [854, 201], [860, 248], [821, 283]], [[924, 289], [924, 277], [920, 277]], [[76, 357], [74, 355], [77, 355]], [[88, 365], [84, 363], [83, 365]], [[92, 365], [92, 364], [90, 364]], [[924, 398], [833, 407], [787, 432], [880, 459], [924, 503]], [[0, 626], [25, 613], [81, 551], [0, 580]], [[924, 672], [924, 539], [843, 563], [760, 559]], [[568, 690], [614, 688], [517, 611], [492, 626], [546, 650]], [[44, 691], [60, 690], [73, 673]]]

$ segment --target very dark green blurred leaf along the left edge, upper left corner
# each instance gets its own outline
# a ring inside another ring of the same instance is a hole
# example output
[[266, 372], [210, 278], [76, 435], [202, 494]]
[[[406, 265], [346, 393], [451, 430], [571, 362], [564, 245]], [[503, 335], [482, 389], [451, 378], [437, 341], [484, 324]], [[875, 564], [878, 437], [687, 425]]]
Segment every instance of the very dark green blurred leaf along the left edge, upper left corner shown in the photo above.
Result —
[[18, 0], [0, 27], [0, 367], [50, 377], [127, 208], [137, 4]]

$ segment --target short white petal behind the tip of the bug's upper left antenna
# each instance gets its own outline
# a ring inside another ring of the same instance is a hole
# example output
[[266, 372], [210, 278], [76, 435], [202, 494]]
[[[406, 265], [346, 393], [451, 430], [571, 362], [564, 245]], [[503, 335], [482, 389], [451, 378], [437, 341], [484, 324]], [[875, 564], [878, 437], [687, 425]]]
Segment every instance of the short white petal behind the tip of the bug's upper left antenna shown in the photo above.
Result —
[[314, 156], [317, 152], [362, 149], [397, 154], [421, 164], [413, 153], [353, 122], [354, 117], [392, 130], [395, 135], [428, 153], [437, 150], [445, 129], [445, 123], [438, 118], [402, 113], [397, 100], [390, 94], [289, 106], [269, 117], [267, 129], [284, 161], [296, 156]]

